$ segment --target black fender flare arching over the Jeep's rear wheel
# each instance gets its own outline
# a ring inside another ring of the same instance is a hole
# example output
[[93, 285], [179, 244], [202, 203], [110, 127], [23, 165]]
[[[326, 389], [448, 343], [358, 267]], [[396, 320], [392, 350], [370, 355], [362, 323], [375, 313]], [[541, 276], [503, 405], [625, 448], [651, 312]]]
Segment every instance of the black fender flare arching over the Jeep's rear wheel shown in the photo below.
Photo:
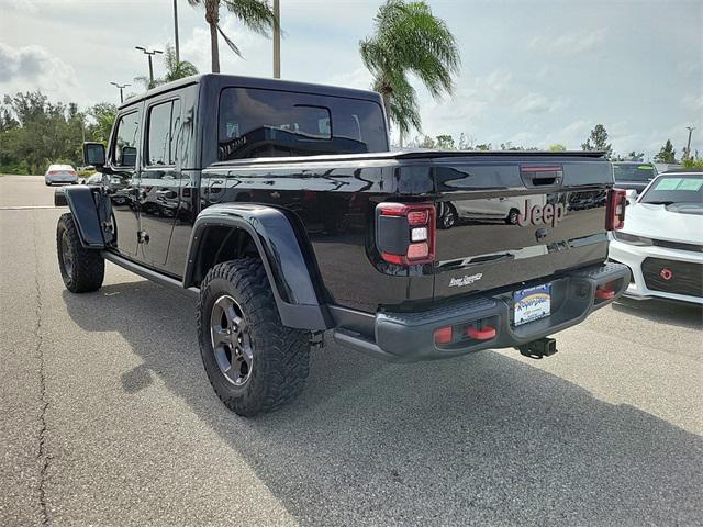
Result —
[[248, 233], [261, 258], [283, 325], [321, 330], [333, 326], [322, 301], [314, 255], [292, 213], [256, 203], [222, 203], [204, 209], [193, 224], [183, 287], [196, 285], [196, 267], [208, 228], [234, 227]]

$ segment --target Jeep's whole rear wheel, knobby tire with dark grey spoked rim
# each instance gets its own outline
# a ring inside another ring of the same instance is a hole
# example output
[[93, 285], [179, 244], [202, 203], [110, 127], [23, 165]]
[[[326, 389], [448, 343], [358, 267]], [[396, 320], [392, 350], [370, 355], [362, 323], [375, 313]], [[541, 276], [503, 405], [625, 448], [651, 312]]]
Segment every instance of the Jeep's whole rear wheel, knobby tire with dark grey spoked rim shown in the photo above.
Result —
[[225, 261], [208, 272], [197, 325], [205, 372], [230, 410], [250, 417], [302, 391], [310, 335], [282, 325], [259, 260]]

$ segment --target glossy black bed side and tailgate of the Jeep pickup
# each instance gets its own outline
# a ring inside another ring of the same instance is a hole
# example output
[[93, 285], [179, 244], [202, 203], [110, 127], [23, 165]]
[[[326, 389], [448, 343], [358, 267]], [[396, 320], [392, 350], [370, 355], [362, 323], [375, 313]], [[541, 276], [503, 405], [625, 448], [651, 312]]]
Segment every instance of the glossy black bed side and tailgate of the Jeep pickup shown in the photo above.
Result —
[[[326, 299], [376, 312], [416, 310], [604, 261], [612, 184], [599, 152], [400, 150], [216, 162], [203, 171], [203, 199], [291, 211]], [[384, 201], [436, 205], [433, 264], [402, 267], [379, 257], [375, 211]], [[547, 224], [511, 221], [515, 211], [535, 208], [563, 214]], [[447, 211], [451, 225], [442, 223]]]

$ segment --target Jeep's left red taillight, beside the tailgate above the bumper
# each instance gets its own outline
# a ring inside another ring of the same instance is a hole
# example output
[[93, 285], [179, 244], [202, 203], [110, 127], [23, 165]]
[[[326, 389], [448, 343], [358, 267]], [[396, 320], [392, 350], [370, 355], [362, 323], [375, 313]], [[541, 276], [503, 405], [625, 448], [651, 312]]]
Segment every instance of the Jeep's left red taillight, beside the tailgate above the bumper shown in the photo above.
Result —
[[379, 203], [376, 212], [376, 243], [383, 260], [400, 266], [434, 261], [433, 203]]

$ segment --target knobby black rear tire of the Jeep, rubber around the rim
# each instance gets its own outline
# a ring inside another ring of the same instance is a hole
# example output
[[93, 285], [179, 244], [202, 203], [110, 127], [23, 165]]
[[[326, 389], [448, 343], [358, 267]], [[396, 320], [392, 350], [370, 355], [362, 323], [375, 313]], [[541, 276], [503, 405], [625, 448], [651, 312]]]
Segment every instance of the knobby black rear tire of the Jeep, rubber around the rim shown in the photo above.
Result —
[[[212, 307], [222, 295], [236, 301], [249, 332], [254, 359], [243, 385], [227, 380], [213, 350]], [[278, 408], [303, 390], [310, 371], [310, 334], [283, 326], [261, 261], [242, 258], [210, 269], [200, 285], [196, 317], [205, 372], [230, 410], [252, 417]]]

